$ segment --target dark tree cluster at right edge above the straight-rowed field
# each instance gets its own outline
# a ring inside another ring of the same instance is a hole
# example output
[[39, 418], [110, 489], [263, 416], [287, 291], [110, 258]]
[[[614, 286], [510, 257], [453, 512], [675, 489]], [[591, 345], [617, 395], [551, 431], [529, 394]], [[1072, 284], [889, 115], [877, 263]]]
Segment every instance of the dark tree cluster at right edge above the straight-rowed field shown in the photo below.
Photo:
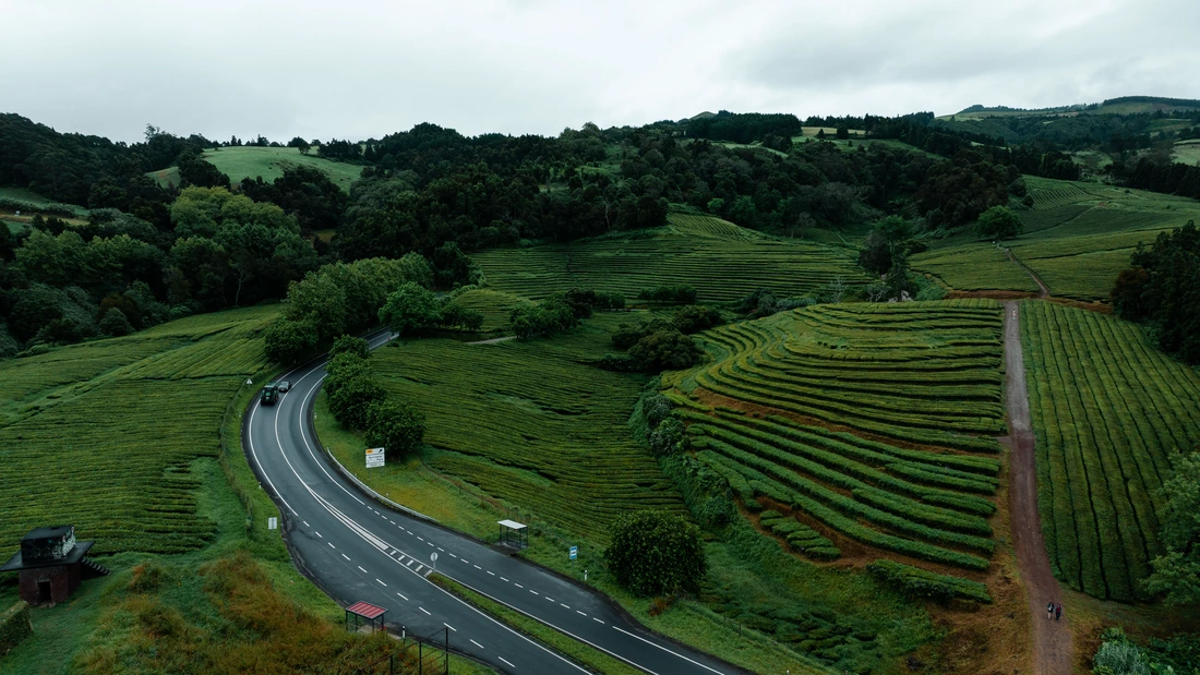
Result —
[[1163, 351], [1200, 363], [1200, 230], [1188, 221], [1141, 246], [1112, 288], [1112, 305], [1130, 321], [1144, 321]]

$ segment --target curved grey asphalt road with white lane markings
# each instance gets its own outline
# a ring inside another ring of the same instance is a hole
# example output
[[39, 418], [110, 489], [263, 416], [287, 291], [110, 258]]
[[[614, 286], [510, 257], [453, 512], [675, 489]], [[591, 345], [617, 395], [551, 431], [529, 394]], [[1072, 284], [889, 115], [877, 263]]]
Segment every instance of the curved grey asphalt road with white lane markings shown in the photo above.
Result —
[[[372, 349], [390, 333], [370, 336]], [[376, 504], [346, 481], [317, 445], [312, 400], [324, 361], [282, 379], [292, 391], [274, 406], [247, 410], [242, 446], [283, 516], [296, 566], [343, 607], [388, 609], [388, 625], [410, 634], [449, 634], [450, 649], [504, 673], [586, 673], [540, 644], [433, 585], [442, 574], [653, 674], [740, 673], [712, 656], [647, 632], [604, 596], [433, 523]]]

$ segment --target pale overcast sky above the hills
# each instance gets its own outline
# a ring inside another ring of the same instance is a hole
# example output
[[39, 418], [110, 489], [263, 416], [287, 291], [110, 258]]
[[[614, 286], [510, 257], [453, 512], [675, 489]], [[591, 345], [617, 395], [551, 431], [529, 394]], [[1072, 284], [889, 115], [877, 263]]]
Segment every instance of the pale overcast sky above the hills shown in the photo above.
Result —
[[1200, 98], [1200, 0], [0, 0], [0, 112], [122, 140]]

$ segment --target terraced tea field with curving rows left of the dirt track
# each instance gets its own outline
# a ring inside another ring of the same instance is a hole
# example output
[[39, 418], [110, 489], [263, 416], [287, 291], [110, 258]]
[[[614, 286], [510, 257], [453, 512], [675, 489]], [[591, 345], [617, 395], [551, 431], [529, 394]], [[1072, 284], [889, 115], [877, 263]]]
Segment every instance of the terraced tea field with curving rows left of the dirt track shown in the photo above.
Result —
[[[959, 569], [992, 553], [1002, 434], [992, 301], [814, 306], [702, 333], [712, 363], [670, 373], [696, 457], [796, 550], [839, 542]], [[953, 448], [953, 450], [952, 450]]]

